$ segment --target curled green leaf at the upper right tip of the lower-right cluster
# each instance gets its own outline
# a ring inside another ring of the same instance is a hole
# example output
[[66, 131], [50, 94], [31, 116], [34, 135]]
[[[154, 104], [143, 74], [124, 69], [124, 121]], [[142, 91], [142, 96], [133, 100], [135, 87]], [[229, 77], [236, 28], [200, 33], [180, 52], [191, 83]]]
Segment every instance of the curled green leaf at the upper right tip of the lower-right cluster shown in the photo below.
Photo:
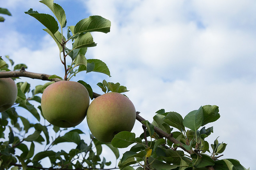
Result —
[[204, 126], [210, 122], [215, 122], [216, 120], [218, 120], [220, 118], [218, 106], [205, 105], [202, 108], [203, 108], [203, 113], [204, 113], [204, 122], [203, 122], [202, 126]]

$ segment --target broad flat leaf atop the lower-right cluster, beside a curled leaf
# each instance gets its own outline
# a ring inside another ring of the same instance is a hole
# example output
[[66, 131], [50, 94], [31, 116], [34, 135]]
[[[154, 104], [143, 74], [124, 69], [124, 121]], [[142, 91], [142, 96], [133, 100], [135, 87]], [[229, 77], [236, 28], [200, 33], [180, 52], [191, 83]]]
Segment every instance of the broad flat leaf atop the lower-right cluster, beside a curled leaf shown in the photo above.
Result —
[[194, 132], [199, 129], [204, 121], [202, 106], [198, 110], [194, 110], [184, 117], [183, 125]]

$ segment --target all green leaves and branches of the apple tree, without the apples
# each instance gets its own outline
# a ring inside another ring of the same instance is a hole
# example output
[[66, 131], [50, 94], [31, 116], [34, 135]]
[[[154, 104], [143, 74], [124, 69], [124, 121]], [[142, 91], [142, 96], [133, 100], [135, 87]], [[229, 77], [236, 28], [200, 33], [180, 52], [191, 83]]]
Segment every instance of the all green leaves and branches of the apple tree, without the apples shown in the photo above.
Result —
[[[100, 72], [110, 77], [110, 71], [103, 61], [87, 59], [85, 54], [88, 47], [96, 46], [90, 32], [108, 33], [111, 23], [101, 16], [90, 16], [80, 20], [75, 26], [66, 26], [65, 11], [60, 5], [53, 3], [53, 0], [40, 2], [51, 9], [54, 17], [33, 9], [25, 13], [41, 22], [46, 27], [43, 30], [56, 42], [65, 75], [61, 78], [57, 75], [27, 72], [25, 64], [15, 65], [9, 56], [0, 58], [0, 78], [29, 77], [49, 81], [43, 85], [37, 85], [34, 89], [31, 89], [28, 82], [17, 83], [18, 95], [15, 104], [1, 113], [0, 169], [246, 169], [236, 159], [220, 159], [227, 146], [226, 143], [220, 143], [218, 138], [211, 142], [206, 141], [207, 137], [213, 133], [213, 127], [207, 124], [220, 118], [218, 106], [201, 106], [185, 117], [176, 112], [160, 109], [156, 111], [153, 122], [148, 122], [140, 116], [143, 113], [137, 112], [136, 119], [142, 124], [141, 135], [136, 137], [135, 133], [123, 131], [116, 134], [111, 143], [102, 143], [92, 135], [88, 137], [90, 142], [86, 143], [81, 129], [59, 128], [45, 121], [41, 114], [40, 96], [48, 85], [54, 81], [70, 80], [82, 71]], [[0, 13], [11, 15], [4, 8], [0, 8]], [[0, 19], [3, 20], [3, 17]], [[63, 35], [64, 28], [68, 30], [66, 36]], [[72, 49], [66, 47], [68, 41], [72, 42]], [[72, 62], [66, 63], [66, 57], [70, 57]], [[87, 88], [91, 99], [100, 95], [94, 93], [92, 87], [83, 80], [78, 82]], [[106, 80], [97, 85], [105, 93], [128, 91], [125, 86]], [[19, 107], [31, 113], [36, 122], [20, 115]], [[70, 148], [68, 152], [53, 151], [53, 147], [67, 142], [74, 143], [76, 147]], [[103, 145], [112, 150], [112, 156], [116, 157], [117, 165], [101, 156]], [[40, 146], [40, 151], [37, 146]], [[118, 148], [128, 146], [130, 146], [129, 151], [120, 156]], [[42, 159], [45, 158], [50, 160], [51, 165], [42, 163]]]

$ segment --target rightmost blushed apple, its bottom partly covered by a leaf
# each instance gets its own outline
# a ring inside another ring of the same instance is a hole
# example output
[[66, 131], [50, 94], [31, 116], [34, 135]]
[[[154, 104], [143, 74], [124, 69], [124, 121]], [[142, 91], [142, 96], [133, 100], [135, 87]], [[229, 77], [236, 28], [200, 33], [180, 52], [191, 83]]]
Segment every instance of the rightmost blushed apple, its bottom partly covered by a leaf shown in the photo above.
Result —
[[86, 119], [92, 135], [101, 142], [109, 143], [117, 133], [132, 130], [136, 110], [126, 96], [109, 92], [92, 100]]

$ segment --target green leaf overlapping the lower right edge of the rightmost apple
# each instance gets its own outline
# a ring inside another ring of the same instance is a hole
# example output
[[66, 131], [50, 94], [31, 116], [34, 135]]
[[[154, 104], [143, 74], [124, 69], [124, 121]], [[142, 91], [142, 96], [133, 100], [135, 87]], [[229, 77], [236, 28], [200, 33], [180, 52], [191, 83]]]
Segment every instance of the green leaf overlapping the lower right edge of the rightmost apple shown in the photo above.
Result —
[[116, 148], [126, 148], [135, 142], [135, 133], [122, 131], [115, 135], [111, 144]]

